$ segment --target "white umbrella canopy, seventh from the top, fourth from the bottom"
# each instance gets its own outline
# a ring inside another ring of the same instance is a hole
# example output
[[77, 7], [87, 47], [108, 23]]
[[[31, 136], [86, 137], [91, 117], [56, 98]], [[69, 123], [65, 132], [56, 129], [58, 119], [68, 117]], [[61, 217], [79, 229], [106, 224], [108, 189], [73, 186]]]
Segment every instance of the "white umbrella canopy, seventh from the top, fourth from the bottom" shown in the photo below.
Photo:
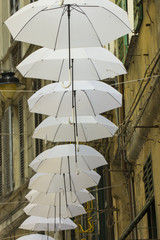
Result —
[[55, 205], [58, 206], [61, 198], [61, 205], [78, 205], [85, 202], [94, 200], [94, 196], [89, 193], [86, 189], [78, 192], [60, 192], [60, 193], [42, 193], [36, 190], [31, 190], [26, 196], [27, 200], [33, 204], [40, 205]]

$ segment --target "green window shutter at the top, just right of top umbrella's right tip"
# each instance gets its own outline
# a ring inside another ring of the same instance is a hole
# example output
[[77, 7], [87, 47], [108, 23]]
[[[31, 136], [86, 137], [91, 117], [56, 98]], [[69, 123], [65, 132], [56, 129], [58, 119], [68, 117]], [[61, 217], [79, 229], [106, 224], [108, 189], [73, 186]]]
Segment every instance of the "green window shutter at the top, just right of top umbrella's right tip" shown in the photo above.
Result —
[[134, 0], [134, 31], [139, 32], [141, 23], [143, 21], [143, 2]]

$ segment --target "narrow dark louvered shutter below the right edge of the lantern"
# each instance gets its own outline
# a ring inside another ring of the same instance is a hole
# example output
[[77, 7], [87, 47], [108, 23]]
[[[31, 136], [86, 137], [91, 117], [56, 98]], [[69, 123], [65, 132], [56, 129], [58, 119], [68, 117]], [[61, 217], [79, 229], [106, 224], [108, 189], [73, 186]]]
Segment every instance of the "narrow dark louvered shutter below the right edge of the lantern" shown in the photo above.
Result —
[[25, 163], [24, 163], [24, 116], [23, 116], [23, 98], [18, 103], [18, 119], [19, 119], [19, 151], [20, 151], [20, 180], [25, 180]]

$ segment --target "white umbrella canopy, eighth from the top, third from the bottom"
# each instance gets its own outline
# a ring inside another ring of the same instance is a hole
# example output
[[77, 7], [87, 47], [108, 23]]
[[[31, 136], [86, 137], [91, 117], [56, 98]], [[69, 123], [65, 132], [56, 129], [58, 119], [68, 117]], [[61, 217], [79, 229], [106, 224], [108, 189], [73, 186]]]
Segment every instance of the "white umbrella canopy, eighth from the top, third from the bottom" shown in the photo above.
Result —
[[84, 207], [80, 204], [56, 207], [29, 203], [23, 210], [27, 215], [46, 218], [72, 218], [86, 213]]

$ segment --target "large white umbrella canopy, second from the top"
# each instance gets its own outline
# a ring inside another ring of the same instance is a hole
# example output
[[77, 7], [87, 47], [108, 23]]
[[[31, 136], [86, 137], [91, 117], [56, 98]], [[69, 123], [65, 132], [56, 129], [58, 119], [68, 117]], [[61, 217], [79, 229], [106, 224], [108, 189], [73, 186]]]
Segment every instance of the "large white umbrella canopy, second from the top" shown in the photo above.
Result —
[[[68, 49], [41, 48], [25, 58], [17, 69], [24, 77], [66, 81]], [[104, 48], [73, 48], [74, 80], [103, 80], [126, 74], [121, 61]]]

